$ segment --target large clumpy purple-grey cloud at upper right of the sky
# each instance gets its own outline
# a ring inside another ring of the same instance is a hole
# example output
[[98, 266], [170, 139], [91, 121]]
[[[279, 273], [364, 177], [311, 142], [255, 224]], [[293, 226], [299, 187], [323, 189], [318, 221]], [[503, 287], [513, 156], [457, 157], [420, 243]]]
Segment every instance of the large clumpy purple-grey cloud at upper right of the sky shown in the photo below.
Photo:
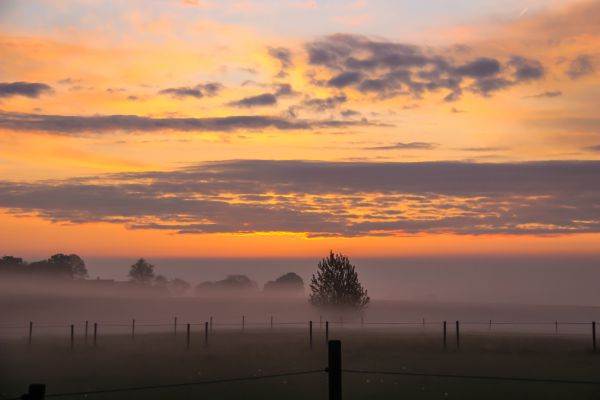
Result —
[[[331, 73], [317, 85], [356, 87], [380, 97], [446, 90], [446, 101], [458, 100], [464, 89], [483, 96], [524, 82], [542, 79], [544, 66], [537, 60], [515, 55], [502, 62], [474, 57], [456, 63], [452, 53], [365, 36], [337, 34], [306, 44], [309, 63]], [[455, 49], [463, 57], [464, 52]], [[309, 72], [315, 76], [315, 73]]]

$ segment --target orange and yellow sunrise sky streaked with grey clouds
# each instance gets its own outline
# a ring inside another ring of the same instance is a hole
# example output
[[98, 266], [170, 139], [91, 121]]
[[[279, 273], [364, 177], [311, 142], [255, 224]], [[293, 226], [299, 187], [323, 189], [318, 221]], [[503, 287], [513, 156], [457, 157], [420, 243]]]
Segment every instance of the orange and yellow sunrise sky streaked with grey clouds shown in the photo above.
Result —
[[0, 253], [600, 255], [600, 1], [0, 1]]

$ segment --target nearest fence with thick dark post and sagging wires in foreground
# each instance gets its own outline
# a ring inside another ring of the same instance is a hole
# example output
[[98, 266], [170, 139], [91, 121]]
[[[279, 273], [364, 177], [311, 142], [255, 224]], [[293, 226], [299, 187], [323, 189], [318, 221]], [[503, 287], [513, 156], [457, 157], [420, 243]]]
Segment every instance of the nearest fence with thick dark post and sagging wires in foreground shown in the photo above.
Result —
[[443, 373], [428, 373], [428, 372], [406, 372], [406, 371], [381, 371], [381, 370], [356, 370], [345, 369], [342, 365], [342, 342], [339, 340], [330, 340], [328, 342], [328, 366], [324, 369], [282, 372], [278, 374], [270, 374], [263, 376], [248, 376], [239, 378], [228, 378], [218, 380], [172, 383], [166, 385], [148, 385], [137, 387], [122, 387], [122, 388], [105, 388], [93, 389], [89, 391], [65, 392], [65, 393], [49, 393], [46, 394], [46, 385], [32, 384], [29, 386], [27, 394], [16, 397], [11, 400], [26, 399], [26, 400], [44, 400], [54, 397], [74, 397], [74, 396], [90, 396], [90, 395], [106, 395], [114, 393], [124, 393], [144, 390], [170, 389], [185, 386], [201, 386], [222, 383], [233, 383], [243, 381], [257, 381], [280, 377], [293, 377], [300, 375], [311, 375], [319, 373], [327, 373], [329, 386], [329, 400], [342, 400], [343, 375], [344, 374], [363, 374], [363, 375], [395, 375], [405, 377], [429, 377], [438, 379], [461, 379], [461, 380], [484, 380], [484, 381], [512, 381], [512, 382], [527, 382], [527, 383], [544, 383], [544, 384], [569, 384], [569, 385], [594, 385], [600, 387], [599, 381], [584, 381], [584, 380], [567, 380], [567, 379], [541, 379], [517, 376], [484, 376], [484, 375], [460, 375], [460, 374], [443, 374]]

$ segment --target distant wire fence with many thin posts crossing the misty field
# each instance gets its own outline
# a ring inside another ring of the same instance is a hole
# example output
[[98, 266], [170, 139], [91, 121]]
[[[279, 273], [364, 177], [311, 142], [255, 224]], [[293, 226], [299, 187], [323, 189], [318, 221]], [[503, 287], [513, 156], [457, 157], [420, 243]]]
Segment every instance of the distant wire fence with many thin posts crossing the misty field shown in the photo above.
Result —
[[[141, 323], [140, 323], [141, 322]], [[32, 344], [34, 332], [36, 330], [41, 330], [48, 332], [48, 330], [52, 329], [66, 329], [69, 337], [69, 345], [73, 349], [75, 346], [75, 334], [76, 328], [83, 331], [83, 339], [84, 343], [88, 343], [90, 330], [92, 330], [92, 343], [94, 346], [98, 344], [100, 329], [104, 330], [112, 330], [112, 333], [123, 333], [129, 332], [131, 339], [135, 340], [136, 333], [139, 333], [140, 328], [152, 328], [153, 332], [168, 332], [172, 330], [173, 335], [177, 336], [179, 334], [179, 329], [181, 327], [185, 327], [185, 335], [186, 335], [186, 347], [190, 348], [191, 346], [191, 335], [192, 329], [194, 327], [201, 327], [203, 330], [204, 337], [204, 346], [208, 346], [209, 336], [213, 333], [215, 328], [222, 329], [241, 329], [245, 331], [250, 328], [269, 328], [271, 330], [275, 328], [282, 327], [295, 327], [295, 328], [303, 328], [307, 330], [307, 336], [310, 346], [313, 345], [314, 340], [314, 326], [316, 323], [313, 321], [276, 321], [273, 316], [270, 316], [268, 322], [266, 321], [248, 321], [245, 316], [242, 316], [238, 322], [215, 322], [213, 317], [209, 317], [207, 321], [204, 322], [187, 322], [185, 324], [181, 324], [177, 317], [173, 317], [172, 322], [166, 323], [164, 320], [145, 320], [140, 321], [136, 319], [132, 319], [129, 322], [123, 321], [112, 321], [112, 322], [94, 322], [93, 324], [90, 321], [82, 321], [77, 324], [51, 324], [51, 323], [42, 323], [35, 324], [34, 321], [29, 321], [27, 325], [21, 324], [5, 324], [0, 325], [0, 330], [12, 330], [15, 331], [25, 331], [27, 332], [27, 340], [29, 344]], [[448, 337], [449, 331], [454, 331], [454, 338], [456, 341], [456, 348], [460, 348], [462, 336], [461, 333], [465, 327], [474, 329], [477, 332], [487, 331], [492, 332], [498, 327], [506, 328], [506, 327], [535, 327], [537, 328], [536, 334], [541, 335], [540, 329], [542, 327], [548, 327], [552, 329], [552, 334], [559, 336], [559, 329], [564, 329], [565, 327], [576, 327], [579, 329], [579, 333], [560, 333], [562, 336], [577, 336], [577, 337], [588, 337], [589, 343], [591, 344], [591, 349], [593, 351], [597, 351], [597, 329], [596, 329], [596, 321], [591, 322], [573, 322], [573, 321], [535, 321], [535, 322], [523, 322], [523, 321], [454, 321], [451, 322], [450, 325], [448, 321], [426, 321], [425, 318], [420, 321], [366, 321], [364, 318], [361, 318], [360, 321], [352, 321], [352, 322], [344, 322], [343, 319], [340, 318], [339, 321], [323, 321], [323, 318], [319, 318], [318, 327], [320, 330], [323, 330], [324, 327], [324, 336], [325, 340], [329, 340], [330, 326], [337, 326], [339, 328], [369, 328], [369, 327], [420, 327], [422, 329], [437, 327], [439, 333], [441, 334], [441, 340], [443, 344], [443, 348], [446, 349], [448, 347]], [[92, 328], [92, 329], [90, 329]], [[115, 331], [115, 329], [117, 331]], [[583, 329], [583, 331], [581, 330]], [[586, 332], [587, 331], [587, 332]], [[548, 334], [548, 333], [546, 333]]]

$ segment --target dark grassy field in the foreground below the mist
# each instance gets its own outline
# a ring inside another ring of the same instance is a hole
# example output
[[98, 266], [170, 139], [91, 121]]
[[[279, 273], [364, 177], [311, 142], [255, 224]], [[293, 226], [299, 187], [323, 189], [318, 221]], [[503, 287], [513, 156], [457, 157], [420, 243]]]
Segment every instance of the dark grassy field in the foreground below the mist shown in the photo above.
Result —
[[[77, 337], [0, 342], [0, 399], [22, 394], [29, 383], [46, 383], [48, 393], [260, 376], [326, 367], [323, 332], [310, 350], [306, 329], [215, 330], [208, 348], [203, 335], [103, 335], [97, 347]], [[600, 354], [589, 340], [553, 336], [465, 333], [443, 350], [439, 334], [386, 329], [335, 329], [342, 340], [343, 367], [362, 370], [519, 376], [600, 381]], [[600, 386], [350, 374], [345, 399], [598, 399]], [[327, 375], [272, 378], [143, 392], [75, 396], [86, 399], [326, 399]]]

